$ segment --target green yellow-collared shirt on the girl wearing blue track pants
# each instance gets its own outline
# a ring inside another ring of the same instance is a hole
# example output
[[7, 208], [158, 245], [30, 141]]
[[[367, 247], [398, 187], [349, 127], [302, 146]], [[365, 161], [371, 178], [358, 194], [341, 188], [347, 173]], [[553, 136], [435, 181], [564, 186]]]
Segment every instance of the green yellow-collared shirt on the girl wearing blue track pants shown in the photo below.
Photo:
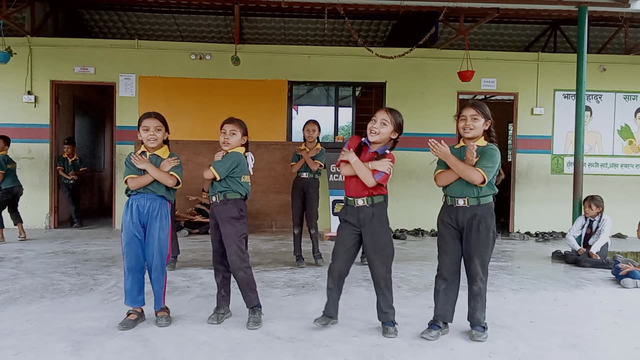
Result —
[[[134, 165], [133, 161], [131, 161], [132, 154], [133, 153], [127, 155], [127, 158], [125, 158], [124, 160], [124, 184], [125, 185], [127, 184], [128, 179], [147, 174], [145, 170], [141, 170], [140, 168], [136, 167], [136, 165]], [[140, 150], [136, 152], [136, 154], [145, 156], [145, 158], [147, 158], [150, 161], [150, 163], [152, 163], [154, 167], [157, 167], [157, 168], [160, 167], [160, 164], [166, 158], [178, 158], [177, 154], [170, 152], [169, 148], [166, 145], [164, 145], [160, 149], [157, 149], [155, 152], [148, 152], [147, 149], [145, 148], [145, 145], [142, 145], [142, 147], [140, 148]], [[175, 165], [175, 167], [172, 167], [169, 170], [169, 174], [172, 174], [178, 179], [178, 183], [175, 184], [173, 188], [170, 188], [164, 185], [163, 183], [157, 180], [154, 180], [151, 183], [149, 183], [147, 186], [144, 186], [143, 188], [140, 188], [138, 190], [131, 190], [129, 186], [127, 186], [124, 193], [125, 195], [127, 195], [127, 197], [134, 195], [136, 193], [154, 193], [156, 195], [163, 196], [165, 199], [169, 200], [170, 202], [173, 202], [175, 201], [176, 190], [182, 187], [182, 163], [179, 163], [178, 165]]]

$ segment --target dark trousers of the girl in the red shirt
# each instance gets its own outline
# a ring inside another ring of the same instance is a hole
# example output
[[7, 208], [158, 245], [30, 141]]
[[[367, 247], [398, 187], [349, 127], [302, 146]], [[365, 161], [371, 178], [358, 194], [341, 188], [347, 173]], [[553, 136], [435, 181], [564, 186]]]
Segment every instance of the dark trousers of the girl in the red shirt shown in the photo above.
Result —
[[376, 290], [376, 307], [380, 322], [396, 321], [391, 266], [394, 262], [394, 242], [389, 233], [387, 204], [344, 206], [339, 213], [340, 225], [331, 254], [326, 279], [326, 305], [323, 314], [338, 317], [338, 307], [344, 280], [360, 247], [367, 252], [369, 271]]

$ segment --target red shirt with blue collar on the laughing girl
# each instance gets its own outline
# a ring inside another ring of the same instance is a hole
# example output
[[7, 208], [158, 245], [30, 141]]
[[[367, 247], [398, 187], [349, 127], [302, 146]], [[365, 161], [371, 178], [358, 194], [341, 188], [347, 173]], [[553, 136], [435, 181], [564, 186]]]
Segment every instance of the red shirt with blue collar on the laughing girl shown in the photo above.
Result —
[[[360, 136], [351, 136], [349, 141], [344, 145], [344, 149], [351, 149], [353, 151], [358, 147], [358, 143], [362, 143], [362, 153], [360, 154], [360, 161], [363, 163], [368, 163], [369, 161], [376, 160], [376, 156], [380, 154], [385, 154], [381, 159], [389, 159], [391, 163], [396, 163], [396, 157], [388, 151], [388, 146], [385, 145], [378, 150], [371, 150], [371, 142], [369, 139], [362, 138]], [[342, 161], [338, 161], [336, 164], [337, 167], [340, 167], [340, 163]], [[348, 161], [344, 161], [348, 163]], [[370, 197], [375, 195], [387, 195], [387, 183], [391, 177], [390, 174], [386, 172], [381, 172], [378, 170], [372, 170], [373, 178], [376, 179], [378, 184], [376, 186], [369, 188], [364, 181], [360, 179], [357, 175], [355, 176], [345, 176], [344, 177], [344, 194], [348, 197]]]

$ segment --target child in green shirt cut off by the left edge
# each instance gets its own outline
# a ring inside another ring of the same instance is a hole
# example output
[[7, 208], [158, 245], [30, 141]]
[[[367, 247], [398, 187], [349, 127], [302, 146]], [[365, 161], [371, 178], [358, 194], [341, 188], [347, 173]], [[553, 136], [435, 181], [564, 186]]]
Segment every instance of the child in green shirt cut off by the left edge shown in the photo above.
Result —
[[18, 227], [18, 240], [27, 240], [22, 226], [22, 217], [18, 211], [18, 202], [22, 196], [22, 184], [18, 180], [17, 165], [10, 158], [8, 151], [11, 138], [0, 135], [0, 244], [4, 243], [4, 220], [2, 213], [8, 209], [13, 225]]

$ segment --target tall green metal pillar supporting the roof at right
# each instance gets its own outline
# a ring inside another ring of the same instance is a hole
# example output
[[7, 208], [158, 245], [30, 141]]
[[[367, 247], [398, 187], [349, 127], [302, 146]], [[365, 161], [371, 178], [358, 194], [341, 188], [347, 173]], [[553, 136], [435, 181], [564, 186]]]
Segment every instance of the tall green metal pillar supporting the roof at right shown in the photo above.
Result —
[[578, 8], [578, 51], [575, 67], [575, 152], [573, 157], [573, 221], [582, 215], [584, 170], [584, 106], [587, 92], [587, 6]]

